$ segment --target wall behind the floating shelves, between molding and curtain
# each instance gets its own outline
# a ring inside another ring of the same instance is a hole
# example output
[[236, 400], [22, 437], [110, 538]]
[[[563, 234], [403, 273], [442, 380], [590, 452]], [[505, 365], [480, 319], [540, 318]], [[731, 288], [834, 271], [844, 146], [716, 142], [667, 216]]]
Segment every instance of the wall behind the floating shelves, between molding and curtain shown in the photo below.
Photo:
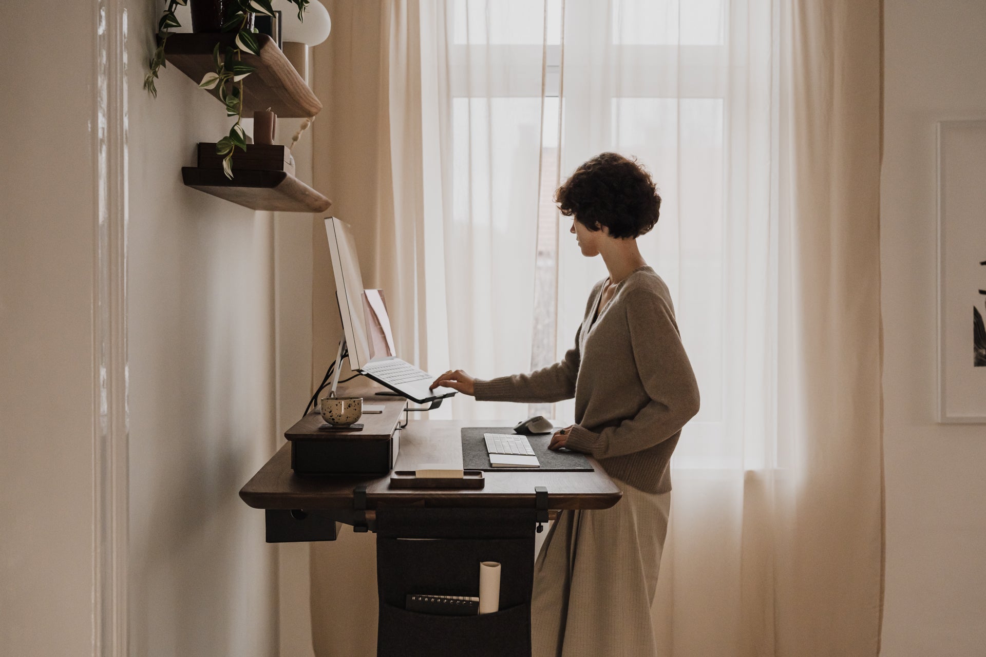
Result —
[[[307, 401], [312, 217], [181, 183], [232, 121], [172, 66], [157, 99], [142, 89], [159, 5], [129, 2], [131, 654], [302, 655], [281, 651], [280, 600], [300, 596], [278, 573], [307, 570], [307, 553], [279, 565], [238, 493]], [[280, 120], [277, 141], [299, 121]]]

